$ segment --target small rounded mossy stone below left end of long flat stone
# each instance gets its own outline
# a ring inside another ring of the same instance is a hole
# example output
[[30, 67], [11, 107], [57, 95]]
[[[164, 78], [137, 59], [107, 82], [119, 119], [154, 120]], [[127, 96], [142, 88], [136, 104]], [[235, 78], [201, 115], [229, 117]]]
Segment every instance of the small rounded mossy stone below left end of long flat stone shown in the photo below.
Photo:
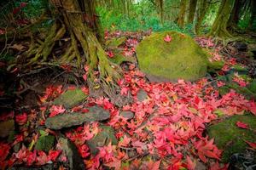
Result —
[[35, 145], [35, 149], [44, 150], [45, 152], [48, 152], [50, 149], [52, 149], [54, 144], [55, 144], [54, 136], [52, 135], [41, 136]]

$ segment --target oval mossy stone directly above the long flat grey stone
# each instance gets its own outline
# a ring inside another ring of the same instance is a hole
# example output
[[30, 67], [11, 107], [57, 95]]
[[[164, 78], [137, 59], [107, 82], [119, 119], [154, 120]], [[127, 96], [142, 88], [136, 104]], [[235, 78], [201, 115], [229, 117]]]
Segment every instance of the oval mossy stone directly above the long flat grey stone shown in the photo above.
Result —
[[64, 94], [61, 94], [54, 100], [53, 105], [63, 105], [66, 109], [72, 108], [75, 105], [79, 105], [87, 95], [84, 92], [76, 88], [74, 90], [67, 90]]

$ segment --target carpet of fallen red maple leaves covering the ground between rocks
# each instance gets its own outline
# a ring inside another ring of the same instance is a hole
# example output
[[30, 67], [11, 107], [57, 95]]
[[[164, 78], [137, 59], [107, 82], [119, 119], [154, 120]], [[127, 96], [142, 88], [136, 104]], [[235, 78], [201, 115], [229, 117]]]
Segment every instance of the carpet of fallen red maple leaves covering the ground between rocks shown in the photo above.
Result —
[[[119, 37], [120, 34], [129, 33], [106, 33], [106, 38]], [[126, 57], [134, 56], [139, 41], [140, 36], [137, 35], [126, 40], [120, 46], [123, 54]], [[163, 41], [172, 42], [172, 37], [166, 37]], [[224, 67], [218, 71], [219, 75], [225, 75], [232, 65], [236, 65], [235, 58], [218, 54], [218, 46], [211, 39], [197, 37], [196, 41], [201, 47], [215, 49], [212, 60], [224, 61]], [[111, 49], [108, 50], [108, 57], [115, 57]], [[245, 112], [256, 116], [256, 103], [253, 99], [245, 99], [233, 89], [220, 95], [218, 89], [225, 82], [215, 77], [204, 77], [197, 82], [178, 80], [154, 83], [148, 82], [136, 64], [126, 64], [123, 70], [124, 78], [118, 82], [121, 95], [131, 95], [133, 101], [122, 108], [113, 105], [110, 99], [90, 97], [90, 90], [86, 86], [77, 87], [89, 95], [83, 104], [71, 109], [53, 105], [51, 101], [67, 89], [73, 90], [75, 87], [50, 85], [45, 89], [44, 95], [40, 96], [38, 109], [2, 114], [2, 121], [15, 120], [16, 133], [13, 134], [14, 139], [9, 137], [0, 143], [0, 167], [41, 167], [51, 164], [58, 169], [68, 169], [70, 160], [58, 140], [64, 134], [76, 145], [84, 160], [80, 163], [84, 163], [86, 169], [175, 170], [198, 169], [199, 165], [203, 165], [205, 169], [227, 169], [228, 164], [220, 161], [223, 150], [219, 150], [214, 139], [207, 136], [207, 125], [220, 116], [241, 115]], [[88, 69], [84, 65], [84, 80], [86, 71]], [[232, 80], [239, 87], [247, 85], [247, 80], [237, 73]], [[88, 122], [61, 131], [44, 127], [47, 117], [73, 112], [86, 114], [93, 105], [109, 111], [108, 121]], [[120, 114], [123, 111], [131, 111], [134, 115], [124, 116]], [[107, 144], [104, 141], [105, 145], [98, 147], [98, 153], [93, 156], [87, 142], [102, 133], [102, 124], [113, 127], [118, 144]], [[244, 122], [236, 122], [236, 125], [248, 128]], [[38, 139], [49, 135], [56, 139], [52, 148], [49, 151], [37, 150]], [[255, 141], [247, 141], [247, 144], [255, 150]]]

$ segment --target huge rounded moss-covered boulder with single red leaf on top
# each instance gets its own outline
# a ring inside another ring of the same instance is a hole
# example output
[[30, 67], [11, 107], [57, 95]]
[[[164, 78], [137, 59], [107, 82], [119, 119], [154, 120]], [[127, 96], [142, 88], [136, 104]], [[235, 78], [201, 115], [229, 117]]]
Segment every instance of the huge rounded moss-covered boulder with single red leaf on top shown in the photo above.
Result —
[[[166, 35], [171, 42], [164, 41]], [[177, 31], [153, 33], [138, 44], [136, 52], [141, 70], [153, 82], [195, 81], [207, 74], [207, 52]]]

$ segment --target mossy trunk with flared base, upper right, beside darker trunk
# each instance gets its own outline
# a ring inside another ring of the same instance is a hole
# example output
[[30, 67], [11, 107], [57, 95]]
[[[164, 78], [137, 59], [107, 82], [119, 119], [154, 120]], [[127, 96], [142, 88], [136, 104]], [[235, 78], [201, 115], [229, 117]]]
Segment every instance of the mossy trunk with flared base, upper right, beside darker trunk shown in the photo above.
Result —
[[212, 30], [209, 35], [213, 37], [232, 37], [227, 31], [227, 24], [230, 19], [230, 13], [235, 0], [222, 0], [218, 8], [218, 14], [212, 24]]

